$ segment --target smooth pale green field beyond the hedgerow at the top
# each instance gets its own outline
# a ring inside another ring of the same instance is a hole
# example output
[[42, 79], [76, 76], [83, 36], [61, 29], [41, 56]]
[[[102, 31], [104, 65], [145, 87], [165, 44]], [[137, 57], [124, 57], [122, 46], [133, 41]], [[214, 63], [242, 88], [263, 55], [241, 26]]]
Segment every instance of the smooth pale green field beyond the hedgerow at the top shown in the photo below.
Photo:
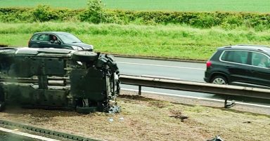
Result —
[[[85, 8], [87, 0], [0, 0], [0, 7]], [[136, 11], [243, 11], [270, 12], [269, 0], [102, 0], [105, 8]]]

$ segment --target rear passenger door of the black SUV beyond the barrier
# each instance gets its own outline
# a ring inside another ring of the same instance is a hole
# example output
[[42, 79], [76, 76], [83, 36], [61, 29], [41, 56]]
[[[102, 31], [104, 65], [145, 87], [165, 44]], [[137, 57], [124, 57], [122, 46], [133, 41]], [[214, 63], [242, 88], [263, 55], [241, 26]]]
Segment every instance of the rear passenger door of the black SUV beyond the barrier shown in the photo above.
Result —
[[224, 51], [221, 61], [225, 62], [224, 67], [231, 83], [248, 81], [248, 51]]

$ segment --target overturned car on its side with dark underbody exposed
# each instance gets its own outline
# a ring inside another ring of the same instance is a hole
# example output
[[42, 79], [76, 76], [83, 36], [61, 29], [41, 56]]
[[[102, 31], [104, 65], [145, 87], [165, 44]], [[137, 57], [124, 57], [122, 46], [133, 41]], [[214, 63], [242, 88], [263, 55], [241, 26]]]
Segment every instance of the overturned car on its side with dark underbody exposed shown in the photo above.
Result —
[[0, 111], [6, 105], [120, 112], [113, 55], [56, 48], [0, 48]]

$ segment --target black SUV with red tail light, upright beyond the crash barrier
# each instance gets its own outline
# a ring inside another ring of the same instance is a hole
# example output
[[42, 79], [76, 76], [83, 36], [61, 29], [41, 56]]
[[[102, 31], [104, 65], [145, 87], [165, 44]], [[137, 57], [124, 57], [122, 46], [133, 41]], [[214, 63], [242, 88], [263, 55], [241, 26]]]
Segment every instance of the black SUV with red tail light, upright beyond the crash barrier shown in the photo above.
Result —
[[205, 81], [252, 87], [270, 87], [270, 47], [224, 46], [206, 63]]

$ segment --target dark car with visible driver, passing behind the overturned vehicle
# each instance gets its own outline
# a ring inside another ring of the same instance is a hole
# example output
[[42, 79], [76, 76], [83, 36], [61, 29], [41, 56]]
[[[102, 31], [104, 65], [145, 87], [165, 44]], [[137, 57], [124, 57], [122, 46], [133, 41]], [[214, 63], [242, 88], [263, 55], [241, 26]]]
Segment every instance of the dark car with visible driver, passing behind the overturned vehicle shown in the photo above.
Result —
[[65, 48], [72, 50], [93, 51], [93, 46], [83, 43], [67, 32], [37, 32], [28, 41], [30, 48]]

